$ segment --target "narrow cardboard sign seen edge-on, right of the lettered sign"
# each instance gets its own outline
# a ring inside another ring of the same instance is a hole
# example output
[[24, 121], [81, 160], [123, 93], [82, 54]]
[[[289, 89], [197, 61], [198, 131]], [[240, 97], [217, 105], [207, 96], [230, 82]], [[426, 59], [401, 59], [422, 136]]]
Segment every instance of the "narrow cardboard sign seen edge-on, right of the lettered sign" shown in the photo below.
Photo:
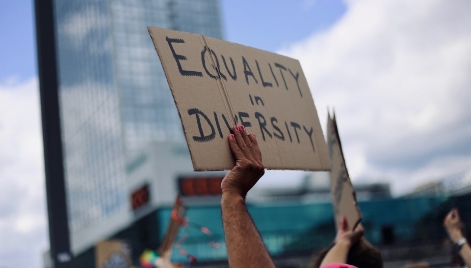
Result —
[[338, 228], [338, 221], [340, 217], [344, 215], [347, 218], [349, 229], [354, 229], [361, 221], [361, 213], [358, 209], [355, 191], [353, 190], [347, 167], [345, 166], [344, 153], [338, 135], [335, 113], [333, 118], [330, 118], [330, 114], [327, 118], [327, 138], [332, 164], [330, 171], [330, 193], [332, 194], [335, 225]]

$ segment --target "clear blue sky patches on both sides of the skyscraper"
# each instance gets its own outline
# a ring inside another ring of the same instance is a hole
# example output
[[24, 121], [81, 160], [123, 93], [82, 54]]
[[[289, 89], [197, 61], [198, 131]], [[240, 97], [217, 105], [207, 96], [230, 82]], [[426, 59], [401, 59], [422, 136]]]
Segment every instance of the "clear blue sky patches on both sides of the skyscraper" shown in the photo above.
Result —
[[[225, 39], [256, 48], [277, 51], [340, 18], [346, 6], [339, 0], [221, 2]], [[0, 8], [0, 81], [35, 76], [36, 36], [33, 1], [4, 1]], [[308, 23], [306, 23], [308, 21]]]

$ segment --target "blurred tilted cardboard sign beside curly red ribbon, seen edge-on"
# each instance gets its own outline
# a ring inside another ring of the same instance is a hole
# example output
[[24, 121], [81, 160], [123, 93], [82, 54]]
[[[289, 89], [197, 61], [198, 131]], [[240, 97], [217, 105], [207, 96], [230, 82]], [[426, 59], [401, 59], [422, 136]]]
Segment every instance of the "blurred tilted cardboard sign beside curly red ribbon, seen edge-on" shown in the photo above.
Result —
[[182, 219], [185, 218], [185, 212], [185, 206], [183, 206], [183, 202], [178, 195], [176, 197], [175, 203], [173, 204], [167, 232], [165, 233], [164, 239], [162, 240], [158, 250], [159, 254], [163, 255], [172, 248], [173, 242], [175, 241], [175, 238], [178, 234], [178, 230], [180, 230]]

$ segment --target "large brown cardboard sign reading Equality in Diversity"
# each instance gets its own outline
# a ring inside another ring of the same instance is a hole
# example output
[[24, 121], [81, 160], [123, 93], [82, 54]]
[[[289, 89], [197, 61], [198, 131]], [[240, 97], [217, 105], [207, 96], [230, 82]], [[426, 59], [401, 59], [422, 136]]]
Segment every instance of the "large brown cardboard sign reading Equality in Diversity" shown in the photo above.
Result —
[[295, 59], [195, 34], [148, 27], [195, 170], [234, 166], [234, 125], [254, 132], [269, 169], [329, 170], [327, 145]]

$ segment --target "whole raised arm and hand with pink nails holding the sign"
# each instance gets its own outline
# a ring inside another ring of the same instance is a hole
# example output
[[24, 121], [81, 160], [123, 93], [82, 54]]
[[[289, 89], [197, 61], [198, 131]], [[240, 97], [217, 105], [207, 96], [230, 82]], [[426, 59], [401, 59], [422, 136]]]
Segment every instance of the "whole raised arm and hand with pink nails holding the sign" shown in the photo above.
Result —
[[236, 166], [221, 184], [222, 223], [229, 266], [275, 267], [245, 204], [247, 192], [265, 172], [258, 143], [255, 135], [247, 135], [242, 126], [235, 126], [233, 132], [229, 145]]

